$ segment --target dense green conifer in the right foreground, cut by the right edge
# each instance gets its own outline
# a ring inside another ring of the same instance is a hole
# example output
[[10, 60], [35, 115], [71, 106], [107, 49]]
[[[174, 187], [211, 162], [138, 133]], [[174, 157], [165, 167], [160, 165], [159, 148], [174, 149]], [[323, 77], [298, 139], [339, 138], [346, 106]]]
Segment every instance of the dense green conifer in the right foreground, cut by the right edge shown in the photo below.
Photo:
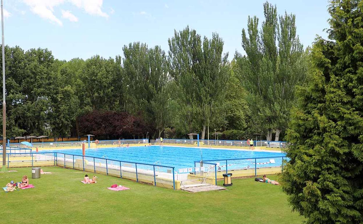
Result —
[[363, 1], [331, 1], [299, 89], [282, 187], [307, 223], [363, 223]]

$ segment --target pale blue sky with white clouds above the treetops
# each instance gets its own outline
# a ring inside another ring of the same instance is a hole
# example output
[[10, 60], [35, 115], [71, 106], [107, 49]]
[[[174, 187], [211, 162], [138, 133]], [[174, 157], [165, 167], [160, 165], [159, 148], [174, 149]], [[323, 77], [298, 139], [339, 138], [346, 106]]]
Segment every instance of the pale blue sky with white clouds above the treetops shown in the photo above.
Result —
[[[202, 36], [219, 33], [229, 59], [244, 53], [242, 28], [248, 16], [263, 21], [264, 0], [4, 0], [5, 44], [24, 50], [48, 48], [55, 58], [83, 59], [95, 54], [115, 57], [123, 45], [146, 42], [168, 51], [174, 29], [189, 25]], [[329, 28], [326, 0], [270, 0], [278, 14], [296, 15], [297, 34], [303, 45]]]

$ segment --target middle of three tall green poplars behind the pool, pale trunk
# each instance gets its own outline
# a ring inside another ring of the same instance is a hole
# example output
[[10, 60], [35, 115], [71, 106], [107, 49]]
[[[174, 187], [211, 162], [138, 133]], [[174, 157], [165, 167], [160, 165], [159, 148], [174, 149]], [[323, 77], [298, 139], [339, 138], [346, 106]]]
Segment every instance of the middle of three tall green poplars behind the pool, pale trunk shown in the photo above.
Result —
[[178, 86], [179, 100], [185, 105], [180, 110], [183, 120], [189, 131], [195, 128], [193, 123], [201, 126], [201, 139], [204, 139], [212, 116], [218, 116], [216, 105], [223, 102], [230, 74], [228, 54], [222, 54], [224, 42], [217, 33], [202, 41], [196, 30], [189, 27], [175, 31], [168, 42], [171, 76]]

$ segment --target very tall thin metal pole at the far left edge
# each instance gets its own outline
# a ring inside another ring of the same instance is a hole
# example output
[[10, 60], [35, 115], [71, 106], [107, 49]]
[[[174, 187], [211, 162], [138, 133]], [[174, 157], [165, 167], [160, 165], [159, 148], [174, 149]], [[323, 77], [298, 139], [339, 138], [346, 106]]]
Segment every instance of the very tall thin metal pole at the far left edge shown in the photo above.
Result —
[[5, 103], [5, 45], [4, 45], [4, 11], [3, 0], [1, 0], [1, 48], [3, 52], [3, 168], [6, 171], [6, 103]]

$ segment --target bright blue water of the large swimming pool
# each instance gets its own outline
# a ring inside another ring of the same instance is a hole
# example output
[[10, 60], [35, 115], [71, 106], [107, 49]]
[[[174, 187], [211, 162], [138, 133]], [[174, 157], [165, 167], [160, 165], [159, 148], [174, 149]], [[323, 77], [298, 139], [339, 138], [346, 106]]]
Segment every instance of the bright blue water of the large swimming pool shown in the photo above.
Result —
[[[239, 159], [239, 158], [261, 158], [261, 157], [278, 157], [285, 156], [280, 152], [260, 152], [260, 151], [242, 151], [242, 150], [221, 150], [213, 148], [201, 148], [203, 160], [219, 160], [221, 170], [225, 170], [224, 159]], [[82, 155], [81, 149], [70, 150], [54, 150], [52, 152], [60, 152], [72, 155]], [[164, 166], [172, 166], [176, 169], [194, 167], [194, 161], [201, 160], [200, 148], [187, 147], [168, 147], [168, 146], [142, 146], [142, 147], [114, 147], [114, 148], [97, 148], [86, 149], [86, 156], [106, 157], [107, 159], [115, 159], [121, 161], [135, 163], [154, 164], [159, 161], [159, 164]], [[275, 161], [271, 163], [270, 159]], [[257, 167], [281, 166], [282, 158], [267, 158], [257, 159]], [[252, 168], [254, 167], [254, 159], [250, 160], [230, 160], [228, 161], [228, 170], [231, 168]]]

